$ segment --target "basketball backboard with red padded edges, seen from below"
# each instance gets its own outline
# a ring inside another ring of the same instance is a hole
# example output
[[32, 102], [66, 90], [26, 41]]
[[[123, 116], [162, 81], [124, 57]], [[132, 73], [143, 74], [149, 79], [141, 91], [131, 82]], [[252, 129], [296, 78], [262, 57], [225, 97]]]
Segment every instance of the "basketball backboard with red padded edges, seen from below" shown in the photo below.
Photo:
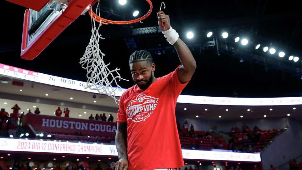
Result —
[[8, 1], [33, 8], [25, 10], [21, 44], [21, 58], [32, 60], [81, 13], [86, 12], [93, 0]]

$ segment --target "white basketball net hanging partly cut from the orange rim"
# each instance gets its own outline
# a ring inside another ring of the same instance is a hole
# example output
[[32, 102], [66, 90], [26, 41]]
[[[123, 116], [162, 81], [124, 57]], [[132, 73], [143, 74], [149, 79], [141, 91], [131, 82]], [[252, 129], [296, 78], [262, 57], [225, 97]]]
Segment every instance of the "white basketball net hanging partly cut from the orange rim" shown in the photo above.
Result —
[[[92, 7], [90, 7], [89, 10], [92, 10]], [[100, 15], [100, 1], [98, 1], [98, 6], [96, 10], [98, 12], [98, 15]], [[118, 81], [120, 81], [121, 79], [126, 79], [120, 77], [120, 74], [117, 72], [120, 70], [119, 68], [110, 71], [108, 68], [110, 63], [108, 63], [107, 65], [104, 63], [103, 56], [105, 56], [105, 54], [101, 52], [98, 42], [100, 38], [105, 38], [101, 37], [101, 35], [98, 33], [98, 30], [102, 24], [99, 23], [97, 27], [95, 25], [95, 19], [96, 18], [91, 17], [92, 35], [90, 38], [90, 42], [86, 47], [86, 51], [80, 60], [82, 68], [87, 70], [86, 76], [88, 80], [87, 87], [85, 88], [97, 90], [98, 93], [101, 94], [107, 94], [115, 100], [115, 103], [118, 103], [117, 101], [119, 100], [115, 98], [115, 91], [121, 87], [117, 84], [117, 79]], [[116, 73], [117, 76], [114, 76], [113, 73]], [[113, 82], [115, 82], [117, 87], [111, 86], [111, 83]]]

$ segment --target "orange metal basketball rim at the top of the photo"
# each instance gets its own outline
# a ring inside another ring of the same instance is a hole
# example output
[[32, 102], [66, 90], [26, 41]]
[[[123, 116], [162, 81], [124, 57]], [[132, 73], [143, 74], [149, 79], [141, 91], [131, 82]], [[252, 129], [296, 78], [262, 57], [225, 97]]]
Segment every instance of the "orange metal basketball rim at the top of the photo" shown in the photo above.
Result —
[[[150, 9], [148, 11], [147, 14], [145, 14], [144, 16], [140, 17], [140, 18], [137, 18], [135, 20], [129, 20], [129, 21], [112, 21], [112, 20], [107, 20], [107, 19], [104, 19], [104, 18], [101, 18], [100, 16], [98, 16], [97, 14], [95, 14], [92, 10], [88, 10], [88, 13], [89, 15], [95, 19], [95, 21], [97, 22], [101, 22], [102, 24], [105, 24], [105, 25], [108, 25], [108, 24], [119, 24], [119, 25], [123, 25], [123, 24], [133, 24], [133, 23], [136, 23], [136, 22], [141, 22], [142, 23], [142, 20], [146, 19], [152, 12], [152, 3], [151, 3], [151, 0], [146, 0], [149, 5], [150, 5]], [[91, 5], [90, 5], [90, 8], [92, 8], [92, 5], [94, 5], [96, 2], [98, 2], [98, 0], [94, 0]]]

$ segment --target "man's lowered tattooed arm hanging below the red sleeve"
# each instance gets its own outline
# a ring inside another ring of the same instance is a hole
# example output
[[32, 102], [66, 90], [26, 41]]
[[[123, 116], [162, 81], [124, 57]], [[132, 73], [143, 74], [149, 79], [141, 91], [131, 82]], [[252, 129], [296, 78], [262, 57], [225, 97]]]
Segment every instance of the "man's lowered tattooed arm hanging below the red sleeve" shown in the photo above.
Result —
[[128, 168], [127, 122], [117, 123], [115, 146], [119, 155], [119, 161], [115, 163], [115, 170], [126, 170]]

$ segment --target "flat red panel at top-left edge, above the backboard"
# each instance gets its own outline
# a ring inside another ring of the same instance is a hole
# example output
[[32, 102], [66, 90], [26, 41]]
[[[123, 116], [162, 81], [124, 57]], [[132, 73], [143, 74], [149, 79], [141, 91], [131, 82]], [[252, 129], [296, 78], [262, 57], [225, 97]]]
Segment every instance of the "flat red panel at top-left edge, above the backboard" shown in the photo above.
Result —
[[40, 11], [49, 0], [6, 0], [11, 3], [15, 3], [24, 6], [35, 11]]

